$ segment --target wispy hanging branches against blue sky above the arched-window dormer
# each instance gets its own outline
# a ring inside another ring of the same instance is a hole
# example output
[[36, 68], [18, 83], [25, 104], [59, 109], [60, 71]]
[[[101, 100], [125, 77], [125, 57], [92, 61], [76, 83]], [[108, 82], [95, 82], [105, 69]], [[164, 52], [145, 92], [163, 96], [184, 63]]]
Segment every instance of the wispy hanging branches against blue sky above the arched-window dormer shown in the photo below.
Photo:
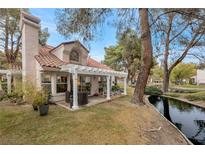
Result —
[[66, 38], [77, 35], [83, 41], [93, 40], [111, 12], [105, 8], [57, 9], [57, 31]]

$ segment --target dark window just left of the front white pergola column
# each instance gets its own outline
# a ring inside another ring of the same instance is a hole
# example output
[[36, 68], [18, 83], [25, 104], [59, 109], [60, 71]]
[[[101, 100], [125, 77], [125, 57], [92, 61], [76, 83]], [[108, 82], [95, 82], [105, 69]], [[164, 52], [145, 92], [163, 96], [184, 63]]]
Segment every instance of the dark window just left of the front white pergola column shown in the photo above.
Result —
[[66, 75], [58, 75], [57, 76], [57, 86], [56, 92], [63, 93], [67, 91], [67, 76]]

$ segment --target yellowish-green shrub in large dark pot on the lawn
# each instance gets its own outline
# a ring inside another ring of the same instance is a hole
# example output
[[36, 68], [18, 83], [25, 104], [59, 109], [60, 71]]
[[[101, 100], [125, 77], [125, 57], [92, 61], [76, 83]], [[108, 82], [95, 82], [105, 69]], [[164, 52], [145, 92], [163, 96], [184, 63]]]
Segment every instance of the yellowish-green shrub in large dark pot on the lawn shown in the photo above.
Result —
[[48, 114], [48, 94], [45, 91], [40, 90], [36, 92], [33, 104], [38, 106], [40, 116], [45, 116]]

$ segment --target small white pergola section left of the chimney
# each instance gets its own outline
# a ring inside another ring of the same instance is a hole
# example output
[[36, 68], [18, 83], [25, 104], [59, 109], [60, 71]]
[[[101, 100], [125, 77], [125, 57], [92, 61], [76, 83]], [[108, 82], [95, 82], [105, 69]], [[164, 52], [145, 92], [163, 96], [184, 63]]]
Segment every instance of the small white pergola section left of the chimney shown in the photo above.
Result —
[[14, 74], [21, 74], [19, 70], [0, 70], [0, 75], [6, 75], [7, 79], [7, 93], [11, 93], [11, 76]]

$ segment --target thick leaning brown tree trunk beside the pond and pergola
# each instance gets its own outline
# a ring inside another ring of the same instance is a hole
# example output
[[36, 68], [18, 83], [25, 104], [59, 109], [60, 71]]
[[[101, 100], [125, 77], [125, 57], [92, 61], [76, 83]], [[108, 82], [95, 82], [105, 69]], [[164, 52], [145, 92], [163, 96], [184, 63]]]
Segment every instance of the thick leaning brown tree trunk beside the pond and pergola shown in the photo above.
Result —
[[135, 86], [132, 102], [135, 104], [145, 104], [143, 101], [144, 89], [147, 84], [150, 68], [152, 64], [152, 42], [149, 27], [148, 9], [139, 9], [141, 43], [142, 43], [142, 62]]

